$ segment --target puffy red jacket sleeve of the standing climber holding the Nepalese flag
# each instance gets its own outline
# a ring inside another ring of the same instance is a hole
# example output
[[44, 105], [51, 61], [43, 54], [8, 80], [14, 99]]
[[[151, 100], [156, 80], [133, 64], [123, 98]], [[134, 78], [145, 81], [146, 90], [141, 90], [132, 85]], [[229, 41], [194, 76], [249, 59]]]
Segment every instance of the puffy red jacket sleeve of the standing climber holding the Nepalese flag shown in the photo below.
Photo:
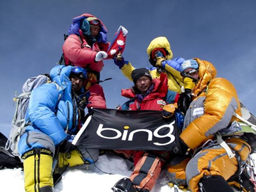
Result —
[[86, 42], [81, 45], [81, 40], [77, 35], [68, 36], [63, 44], [63, 53], [68, 60], [78, 64], [79, 67], [86, 67], [88, 64], [97, 65], [95, 61], [97, 51], [93, 51]]

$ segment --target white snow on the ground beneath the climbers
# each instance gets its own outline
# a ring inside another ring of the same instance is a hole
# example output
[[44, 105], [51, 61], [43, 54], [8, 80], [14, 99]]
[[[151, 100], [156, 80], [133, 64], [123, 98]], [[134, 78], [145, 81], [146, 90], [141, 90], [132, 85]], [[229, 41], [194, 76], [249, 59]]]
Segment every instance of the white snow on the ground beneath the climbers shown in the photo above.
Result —
[[[254, 159], [255, 157], [255, 154], [253, 154]], [[129, 175], [131, 174], [131, 171], [129, 171], [129, 167], [131, 167], [131, 163], [129, 163], [129, 161], [110, 154], [103, 155], [100, 156], [99, 161], [97, 161], [97, 163], [95, 164], [83, 166], [80, 168], [72, 168], [63, 173], [61, 181], [54, 187], [54, 192], [111, 192], [111, 188], [119, 179], [129, 177]], [[111, 173], [111, 175], [108, 173]], [[0, 170], [0, 180], [1, 191], [25, 191], [24, 174], [21, 168]], [[156, 186], [154, 187], [154, 189], [152, 189], [152, 192], [164, 191], [172, 192], [174, 191], [174, 188], [170, 188], [166, 184], [165, 172], [163, 171], [159, 179], [157, 180]]]

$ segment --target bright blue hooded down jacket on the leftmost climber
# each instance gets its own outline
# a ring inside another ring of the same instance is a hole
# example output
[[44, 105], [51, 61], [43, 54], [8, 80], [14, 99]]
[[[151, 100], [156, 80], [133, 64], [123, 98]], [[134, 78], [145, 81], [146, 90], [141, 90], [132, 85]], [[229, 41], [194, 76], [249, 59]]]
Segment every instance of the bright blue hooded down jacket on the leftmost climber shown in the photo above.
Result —
[[[57, 65], [52, 68], [50, 73], [51, 80], [54, 83], [42, 84], [32, 91], [26, 113], [26, 119], [32, 125], [26, 127], [26, 136], [24, 134], [24, 137], [29, 136], [29, 131], [43, 132], [51, 138], [56, 146], [68, 137], [65, 132], [66, 129], [70, 134], [76, 133], [77, 116], [75, 116], [76, 120], [73, 121], [72, 83], [68, 78], [70, 72], [71, 66]], [[20, 138], [20, 142], [26, 142], [23, 136]], [[41, 139], [44, 140], [44, 138]], [[29, 146], [33, 146], [32, 148], [45, 147], [37, 141], [32, 144], [27, 143], [27, 145], [20, 142], [20, 154], [31, 150], [31, 148], [28, 148]]]

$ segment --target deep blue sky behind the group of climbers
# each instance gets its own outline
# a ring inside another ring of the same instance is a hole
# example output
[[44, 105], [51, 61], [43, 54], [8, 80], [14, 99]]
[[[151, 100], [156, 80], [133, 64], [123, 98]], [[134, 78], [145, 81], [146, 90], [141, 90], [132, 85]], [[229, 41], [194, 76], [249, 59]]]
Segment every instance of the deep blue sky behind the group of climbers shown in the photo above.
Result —
[[[0, 2], [0, 131], [8, 135], [15, 91], [32, 76], [49, 73], [62, 54], [63, 34], [72, 18], [83, 13], [99, 17], [112, 42], [120, 25], [128, 31], [125, 60], [150, 67], [147, 47], [157, 36], [168, 38], [173, 58], [210, 61], [218, 77], [236, 87], [239, 99], [256, 114], [256, 1], [254, 0], [9, 0]], [[132, 82], [113, 63], [104, 62], [100, 76], [107, 107], [127, 99], [122, 88]]]

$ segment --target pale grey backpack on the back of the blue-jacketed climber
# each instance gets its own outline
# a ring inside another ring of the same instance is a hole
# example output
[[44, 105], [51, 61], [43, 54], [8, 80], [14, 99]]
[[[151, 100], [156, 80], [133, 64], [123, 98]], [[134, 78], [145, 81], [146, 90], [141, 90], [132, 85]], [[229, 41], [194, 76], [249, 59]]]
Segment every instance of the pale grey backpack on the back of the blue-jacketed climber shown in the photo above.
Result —
[[20, 140], [20, 136], [26, 132], [27, 122], [25, 120], [26, 111], [28, 109], [30, 95], [33, 89], [37, 88], [41, 84], [51, 83], [51, 79], [48, 74], [39, 75], [36, 77], [30, 77], [22, 87], [22, 92], [19, 96], [17, 96], [17, 92], [15, 93], [15, 97], [13, 101], [16, 103], [16, 108], [12, 120], [12, 129], [10, 131], [10, 137], [6, 142], [5, 149], [12, 150], [13, 156], [19, 156], [18, 152], [18, 143]]

